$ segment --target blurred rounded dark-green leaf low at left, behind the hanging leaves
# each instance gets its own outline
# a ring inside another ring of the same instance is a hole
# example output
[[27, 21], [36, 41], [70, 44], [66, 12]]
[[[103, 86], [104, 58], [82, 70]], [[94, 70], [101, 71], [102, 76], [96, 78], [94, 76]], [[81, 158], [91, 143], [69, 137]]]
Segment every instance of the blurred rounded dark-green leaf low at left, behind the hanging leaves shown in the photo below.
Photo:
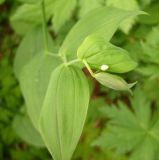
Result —
[[13, 120], [13, 129], [17, 135], [27, 143], [37, 147], [45, 146], [39, 132], [34, 128], [26, 114], [15, 116]]

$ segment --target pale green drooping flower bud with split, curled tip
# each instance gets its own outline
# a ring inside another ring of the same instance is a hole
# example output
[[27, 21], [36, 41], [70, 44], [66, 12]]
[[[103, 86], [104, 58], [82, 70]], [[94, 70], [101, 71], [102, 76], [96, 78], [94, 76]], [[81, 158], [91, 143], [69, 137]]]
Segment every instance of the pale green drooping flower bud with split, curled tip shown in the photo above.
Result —
[[94, 74], [94, 78], [108, 88], [119, 91], [129, 91], [130, 93], [130, 88], [136, 84], [136, 82], [128, 84], [123, 78], [105, 72]]

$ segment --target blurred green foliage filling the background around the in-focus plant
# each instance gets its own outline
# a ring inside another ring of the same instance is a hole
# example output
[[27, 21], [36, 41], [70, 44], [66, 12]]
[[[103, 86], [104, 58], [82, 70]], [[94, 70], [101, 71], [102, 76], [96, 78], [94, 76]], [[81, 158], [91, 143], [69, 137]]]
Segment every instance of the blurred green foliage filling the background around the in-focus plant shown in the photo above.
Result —
[[[14, 56], [26, 31], [41, 23], [40, 18], [37, 18], [41, 14], [38, 4], [30, 4], [34, 0], [28, 1], [28, 4], [22, 2], [0, 0], [0, 160], [50, 160], [45, 148], [32, 146], [26, 137], [21, 139], [21, 133], [14, 130], [13, 125], [15, 117], [23, 116], [21, 106], [24, 104], [14, 76]], [[118, 6], [119, 0], [80, 0], [79, 3], [70, 0], [65, 8], [67, 14], [60, 19], [60, 2], [51, 11], [50, 0], [46, 1], [47, 20], [55, 51], [70, 28], [87, 12], [107, 4], [122, 8], [122, 5]], [[149, 15], [125, 22], [111, 42], [128, 50], [138, 62], [135, 71], [123, 77], [138, 81], [139, 87], [134, 89], [134, 97], [131, 97], [91, 80], [92, 101], [74, 160], [159, 159], [159, 1], [134, 0], [132, 3]], [[124, 4], [125, 8], [133, 7]], [[138, 133], [141, 130], [142, 133]]]

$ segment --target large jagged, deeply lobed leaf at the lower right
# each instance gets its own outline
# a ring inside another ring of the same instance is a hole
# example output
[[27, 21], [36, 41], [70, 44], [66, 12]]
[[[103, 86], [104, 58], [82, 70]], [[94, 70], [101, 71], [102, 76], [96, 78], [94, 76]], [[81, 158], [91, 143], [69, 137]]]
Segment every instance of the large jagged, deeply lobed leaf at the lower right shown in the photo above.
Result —
[[152, 116], [151, 102], [140, 89], [131, 99], [133, 112], [122, 102], [104, 107], [102, 112], [110, 119], [94, 145], [102, 149], [116, 149], [131, 153], [130, 160], [156, 160], [159, 156], [159, 112]]

